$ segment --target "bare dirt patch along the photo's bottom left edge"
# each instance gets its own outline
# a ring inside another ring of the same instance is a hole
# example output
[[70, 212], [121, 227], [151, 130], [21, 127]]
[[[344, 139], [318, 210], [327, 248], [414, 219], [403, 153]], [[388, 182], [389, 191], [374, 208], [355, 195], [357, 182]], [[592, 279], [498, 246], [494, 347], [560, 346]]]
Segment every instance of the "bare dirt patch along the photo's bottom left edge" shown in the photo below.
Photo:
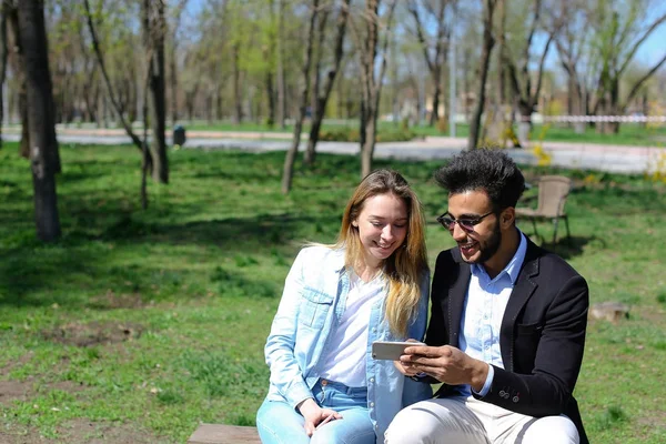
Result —
[[0, 430], [0, 443], [12, 444], [152, 444], [164, 442], [148, 431], [128, 424], [95, 423], [84, 418], [68, 421], [57, 427], [57, 438], [46, 438], [34, 427], [13, 425]]

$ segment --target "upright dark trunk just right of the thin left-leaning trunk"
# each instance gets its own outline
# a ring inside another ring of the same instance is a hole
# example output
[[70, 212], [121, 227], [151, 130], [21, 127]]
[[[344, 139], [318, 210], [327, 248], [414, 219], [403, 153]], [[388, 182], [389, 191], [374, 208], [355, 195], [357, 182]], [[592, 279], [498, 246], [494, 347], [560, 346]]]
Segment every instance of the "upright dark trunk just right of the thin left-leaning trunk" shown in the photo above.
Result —
[[[167, 103], [165, 103], [165, 73], [164, 73], [164, 3], [143, 0], [143, 41], [148, 52], [148, 69], [150, 75], [150, 91], [148, 91], [150, 124], [152, 140], [150, 143], [152, 155], [152, 178], [159, 183], [169, 183], [169, 160], [167, 158]], [[145, 100], [145, 99], [144, 99]]]

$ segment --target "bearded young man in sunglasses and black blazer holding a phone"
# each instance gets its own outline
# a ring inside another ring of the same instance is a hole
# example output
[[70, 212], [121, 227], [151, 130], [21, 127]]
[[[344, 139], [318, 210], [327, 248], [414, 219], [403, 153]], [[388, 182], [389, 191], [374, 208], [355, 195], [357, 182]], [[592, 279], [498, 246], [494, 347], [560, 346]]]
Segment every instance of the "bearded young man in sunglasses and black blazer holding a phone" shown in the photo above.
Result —
[[404, 443], [587, 443], [574, 386], [588, 291], [562, 258], [515, 225], [525, 180], [502, 151], [466, 151], [440, 169], [457, 246], [437, 258], [426, 346], [396, 366], [442, 382], [401, 411], [385, 437]]

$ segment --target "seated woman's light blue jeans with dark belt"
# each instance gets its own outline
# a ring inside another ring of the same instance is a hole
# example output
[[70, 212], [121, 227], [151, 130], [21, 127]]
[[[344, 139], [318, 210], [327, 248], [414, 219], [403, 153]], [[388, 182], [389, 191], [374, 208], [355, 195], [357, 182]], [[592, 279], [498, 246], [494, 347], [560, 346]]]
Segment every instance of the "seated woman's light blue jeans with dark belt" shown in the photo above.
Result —
[[256, 412], [256, 428], [263, 444], [375, 444], [375, 433], [367, 411], [365, 387], [320, 380], [312, 389], [314, 401], [342, 415], [316, 430], [305, 433], [305, 420], [283, 401], [265, 400]]

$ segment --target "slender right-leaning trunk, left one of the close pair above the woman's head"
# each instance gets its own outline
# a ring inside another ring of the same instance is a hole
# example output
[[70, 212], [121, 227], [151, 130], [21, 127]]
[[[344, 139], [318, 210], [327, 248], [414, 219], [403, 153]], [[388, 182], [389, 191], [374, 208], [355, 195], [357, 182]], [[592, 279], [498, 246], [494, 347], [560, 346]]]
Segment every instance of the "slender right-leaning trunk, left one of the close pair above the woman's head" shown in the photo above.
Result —
[[284, 158], [284, 168], [282, 172], [282, 192], [284, 194], [291, 191], [292, 179], [294, 175], [294, 162], [299, 152], [299, 143], [301, 142], [301, 131], [303, 129], [303, 120], [305, 119], [305, 109], [307, 108], [307, 93], [310, 91], [310, 64], [312, 61], [312, 48], [314, 47], [314, 23], [319, 10], [319, 0], [312, 0], [312, 12], [310, 16], [310, 26], [307, 28], [307, 43], [305, 44], [305, 58], [301, 70], [303, 90], [300, 98], [299, 117], [294, 122], [294, 135], [292, 145]]

